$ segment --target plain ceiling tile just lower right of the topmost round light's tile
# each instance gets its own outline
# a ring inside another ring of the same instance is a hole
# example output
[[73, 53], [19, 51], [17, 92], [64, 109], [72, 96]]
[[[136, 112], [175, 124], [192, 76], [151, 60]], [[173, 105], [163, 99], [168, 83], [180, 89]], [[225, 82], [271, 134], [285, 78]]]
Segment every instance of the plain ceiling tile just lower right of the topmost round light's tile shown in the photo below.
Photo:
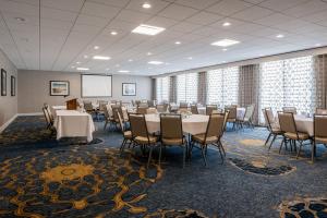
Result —
[[197, 10], [189, 8], [189, 7], [170, 4], [164, 11], [161, 11], [159, 13], [159, 15], [168, 17], [168, 19], [184, 20], [184, 19], [192, 16], [196, 12], [197, 12]]

